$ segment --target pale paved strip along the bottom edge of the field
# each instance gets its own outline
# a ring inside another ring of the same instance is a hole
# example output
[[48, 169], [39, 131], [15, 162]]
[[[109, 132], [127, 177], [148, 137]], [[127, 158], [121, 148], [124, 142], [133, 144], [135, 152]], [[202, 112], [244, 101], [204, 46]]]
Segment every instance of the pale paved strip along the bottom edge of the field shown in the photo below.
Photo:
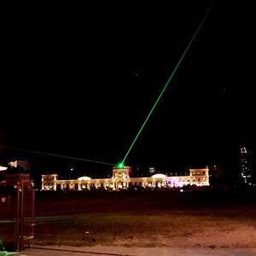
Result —
[[177, 247], [33, 247], [27, 248], [20, 253], [3, 255], [31, 255], [31, 256], [79, 256], [79, 255], [102, 255], [102, 256], [254, 256], [256, 248], [177, 248]]

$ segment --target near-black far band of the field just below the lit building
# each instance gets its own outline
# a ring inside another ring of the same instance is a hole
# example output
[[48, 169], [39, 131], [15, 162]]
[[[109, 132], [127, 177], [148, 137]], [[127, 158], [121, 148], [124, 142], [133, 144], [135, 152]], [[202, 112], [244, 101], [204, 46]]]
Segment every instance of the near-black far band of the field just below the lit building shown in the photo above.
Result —
[[254, 191], [116, 191], [67, 193], [44, 191], [36, 195], [36, 216], [84, 213], [226, 212], [250, 215], [256, 210]]

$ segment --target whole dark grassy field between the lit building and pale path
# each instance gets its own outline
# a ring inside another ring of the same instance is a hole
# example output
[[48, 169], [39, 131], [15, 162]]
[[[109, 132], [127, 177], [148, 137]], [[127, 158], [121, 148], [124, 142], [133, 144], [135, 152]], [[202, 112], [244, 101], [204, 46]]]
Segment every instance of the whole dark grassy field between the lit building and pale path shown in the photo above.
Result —
[[38, 191], [35, 223], [44, 245], [256, 247], [256, 193]]

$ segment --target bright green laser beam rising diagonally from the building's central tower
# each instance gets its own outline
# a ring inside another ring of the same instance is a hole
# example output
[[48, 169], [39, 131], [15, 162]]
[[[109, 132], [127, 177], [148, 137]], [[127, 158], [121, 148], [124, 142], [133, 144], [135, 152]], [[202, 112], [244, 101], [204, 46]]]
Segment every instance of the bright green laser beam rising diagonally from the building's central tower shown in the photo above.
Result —
[[[211, 7], [211, 9], [212, 9], [212, 7]], [[211, 9], [208, 9], [208, 10], [207, 10], [207, 14], [206, 14], [206, 15], [204, 16], [204, 18], [201, 20], [201, 23], [200, 23], [199, 26], [197, 27], [197, 29], [196, 29], [196, 31], [195, 31], [193, 37], [190, 39], [188, 46], [187, 46], [186, 49], [183, 51], [183, 55], [181, 55], [180, 59], [177, 61], [177, 65], [174, 67], [174, 69], [173, 69], [173, 71], [172, 71], [172, 73], [171, 73], [169, 79], [167, 80], [167, 82], [166, 82], [166, 84], [165, 84], [163, 90], [160, 92], [160, 96], [158, 96], [156, 102], [154, 103], [153, 107], [151, 108], [150, 112], [148, 113], [148, 116], [147, 116], [147, 118], [145, 119], [145, 121], [143, 122], [143, 125], [142, 125], [141, 129], [138, 131], [137, 136], [135, 137], [135, 139], [134, 139], [133, 142], [131, 143], [131, 146], [130, 146], [130, 148], [128, 149], [127, 153], [125, 154], [125, 157], [124, 157], [124, 159], [122, 160], [121, 164], [124, 164], [124, 162], [125, 162], [125, 160], [126, 160], [128, 154], [129, 154], [130, 151], [131, 151], [131, 148], [133, 147], [134, 143], [136, 143], [137, 138], [139, 137], [139, 135], [140, 135], [141, 132], [143, 131], [144, 126], [146, 125], [146, 123], [148, 122], [149, 117], [151, 116], [151, 114], [152, 114], [153, 111], [154, 111], [154, 108], [156, 107], [157, 103], [160, 101], [161, 96], [163, 96], [163, 94], [164, 94], [164, 92], [165, 92], [167, 86], [170, 84], [170, 82], [171, 82], [171, 80], [172, 80], [172, 77], [173, 77], [174, 74], [176, 73], [177, 68], [180, 66], [180, 63], [183, 61], [184, 56], [187, 54], [187, 52], [188, 52], [188, 50], [189, 50], [189, 48], [190, 48], [190, 45], [191, 45], [191, 44], [193, 43], [193, 41], [195, 40], [196, 35], [197, 35], [198, 32], [201, 30], [201, 26], [204, 24], [205, 20], [207, 19], [207, 15], [209, 14], [209, 12], [210, 12]]]

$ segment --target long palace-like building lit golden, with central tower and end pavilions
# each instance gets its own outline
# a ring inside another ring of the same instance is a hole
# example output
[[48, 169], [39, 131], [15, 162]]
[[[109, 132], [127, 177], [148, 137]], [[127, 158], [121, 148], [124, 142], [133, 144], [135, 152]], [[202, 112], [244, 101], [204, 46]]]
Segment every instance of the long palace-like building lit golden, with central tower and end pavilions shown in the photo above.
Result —
[[113, 177], [78, 179], [58, 179], [58, 174], [42, 175], [42, 190], [90, 190], [90, 189], [129, 189], [129, 188], [180, 188], [185, 185], [209, 186], [209, 169], [189, 169], [184, 176], [166, 176], [156, 173], [151, 177], [131, 177], [132, 167], [113, 167]]

